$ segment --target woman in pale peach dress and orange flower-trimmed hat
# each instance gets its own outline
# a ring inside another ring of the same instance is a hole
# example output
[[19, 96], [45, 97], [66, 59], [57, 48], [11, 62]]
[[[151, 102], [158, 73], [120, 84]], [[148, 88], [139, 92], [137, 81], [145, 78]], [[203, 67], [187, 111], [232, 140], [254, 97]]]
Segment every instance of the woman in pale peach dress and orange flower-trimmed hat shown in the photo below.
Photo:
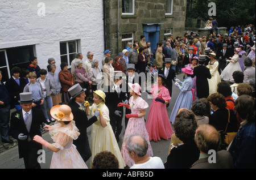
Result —
[[84, 160], [73, 145], [73, 140], [80, 135], [73, 120], [71, 108], [68, 105], [53, 106], [51, 115], [57, 121], [53, 126], [46, 125], [53, 144], [48, 143], [41, 136], [35, 135], [34, 141], [53, 151], [51, 169], [88, 169]]

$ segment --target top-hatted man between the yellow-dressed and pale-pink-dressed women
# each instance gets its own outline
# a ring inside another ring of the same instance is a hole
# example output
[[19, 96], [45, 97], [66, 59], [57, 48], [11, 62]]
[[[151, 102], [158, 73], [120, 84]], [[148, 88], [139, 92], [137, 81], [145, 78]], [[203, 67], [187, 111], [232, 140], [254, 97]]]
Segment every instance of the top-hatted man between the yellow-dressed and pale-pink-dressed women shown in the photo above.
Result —
[[126, 100], [126, 89], [122, 89], [122, 71], [114, 71], [114, 83], [110, 85], [108, 92], [105, 92], [105, 105], [109, 108], [110, 125], [115, 134], [115, 139], [119, 142], [119, 135], [122, 131], [123, 107], [118, 107], [120, 102]]

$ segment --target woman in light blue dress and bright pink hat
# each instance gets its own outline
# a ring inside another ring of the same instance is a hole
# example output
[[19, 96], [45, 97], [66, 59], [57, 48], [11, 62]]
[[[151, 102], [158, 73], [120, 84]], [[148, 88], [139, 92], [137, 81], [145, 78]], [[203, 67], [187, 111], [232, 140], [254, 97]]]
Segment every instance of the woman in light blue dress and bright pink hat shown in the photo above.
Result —
[[179, 79], [176, 79], [175, 83], [176, 87], [180, 89], [180, 93], [175, 102], [174, 109], [172, 109], [172, 114], [170, 117], [170, 121], [172, 122], [172, 124], [174, 124], [175, 122], [175, 117], [177, 115], [177, 112], [179, 112], [179, 109], [187, 108], [191, 110], [191, 104], [193, 101], [194, 89], [192, 89], [193, 81], [191, 78], [191, 76], [193, 75], [193, 71], [189, 67], [182, 68], [182, 71], [185, 76], [184, 82], [181, 82]]

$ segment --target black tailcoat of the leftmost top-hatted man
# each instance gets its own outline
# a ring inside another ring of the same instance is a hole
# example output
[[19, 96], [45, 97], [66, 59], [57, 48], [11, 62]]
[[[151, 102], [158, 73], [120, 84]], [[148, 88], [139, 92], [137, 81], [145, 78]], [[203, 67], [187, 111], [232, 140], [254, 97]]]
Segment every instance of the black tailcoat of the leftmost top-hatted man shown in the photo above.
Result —
[[37, 148], [38, 150], [42, 149], [42, 144], [39, 144], [34, 140], [28, 142], [28, 138], [26, 140], [18, 139], [18, 136], [21, 133], [30, 136], [31, 139], [33, 139], [35, 135], [42, 136], [40, 132], [40, 125], [42, 125], [43, 122], [47, 123], [47, 121], [41, 109], [32, 108], [32, 123], [30, 132], [27, 131], [22, 109], [11, 114], [10, 122], [9, 134], [18, 140], [19, 158], [26, 156], [27, 152], [29, 152], [29, 148]]

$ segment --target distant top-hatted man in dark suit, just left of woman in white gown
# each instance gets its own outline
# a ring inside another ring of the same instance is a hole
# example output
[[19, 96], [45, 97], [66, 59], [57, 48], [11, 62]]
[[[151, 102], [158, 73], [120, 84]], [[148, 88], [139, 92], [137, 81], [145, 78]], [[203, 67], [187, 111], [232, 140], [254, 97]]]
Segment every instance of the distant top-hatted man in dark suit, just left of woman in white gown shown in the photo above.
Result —
[[221, 70], [223, 71], [226, 67], [226, 60], [231, 56], [230, 48], [228, 48], [228, 44], [224, 43], [222, 49], [220, 49], [217, 53], [217, 59], [219, 59], [218, 72], [221, 74]]

